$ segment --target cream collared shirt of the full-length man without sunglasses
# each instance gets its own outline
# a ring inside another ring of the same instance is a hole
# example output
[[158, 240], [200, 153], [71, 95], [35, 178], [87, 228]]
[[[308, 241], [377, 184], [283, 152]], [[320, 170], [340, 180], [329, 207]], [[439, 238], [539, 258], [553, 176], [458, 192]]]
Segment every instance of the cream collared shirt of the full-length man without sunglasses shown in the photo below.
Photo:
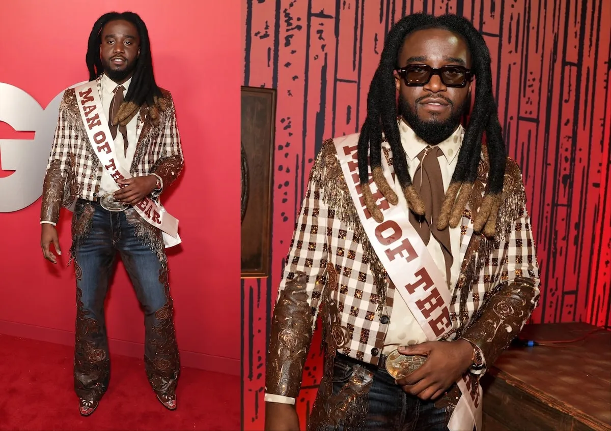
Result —
[[[130, 88], [130, 83], [131, 83], [131, 78], [126, 80], [126, 82], [124, 82], [123, 84], [121, 84], [125, 88], [125, 90], [123, 90], [123, 97], [125, 97], [125, 94], [127, 94], [127, 90], [128, 88]], [[102, 75], [100, 84], [101, 84], [100, 98], [102, 101], [102, 108], [103, 108], [104, 114], [107, 117], [106, 121], [108, 121], [111, 101], [112, 101], [112, 98], [114, 98], [114, 90], [115, 88], [117, 88], [117, 85], [119, 84], [117, 84], [112, 79], [110, 79], [108, 76], [106, 76], [105, 73]], [[117, 160], [119, 161], [120, 165], [123, 166], [123, 168], [127, 172], [131, 171], [130, 169], [131, 162], [134, 160], [134, 154], [136, 153], [137, 121], [138, 121], [138, 115], [134, 115], [134, 118], [132, 118], [130, 122], [127, 123], [127, 126], [126, 126], [127, 142], [128, 142], [127, 154], [125, 154], [125, 151], [123, 149], [124, 148], [123, 147], [123, 138], [120, 132], [117, 131], [117, 137], [114, 140], [115, 153], [117, 155]], [[99, 196], [104, 196], [104, 194], [106, 193], [111, 193], [112, 191], [119, 190], [119, 186], [112, 179], [108, 171], [106, 171], [104, 167], [102, 167], [102, 169], [103, 170], [102, 170], [102, 178], [100, 180]]]

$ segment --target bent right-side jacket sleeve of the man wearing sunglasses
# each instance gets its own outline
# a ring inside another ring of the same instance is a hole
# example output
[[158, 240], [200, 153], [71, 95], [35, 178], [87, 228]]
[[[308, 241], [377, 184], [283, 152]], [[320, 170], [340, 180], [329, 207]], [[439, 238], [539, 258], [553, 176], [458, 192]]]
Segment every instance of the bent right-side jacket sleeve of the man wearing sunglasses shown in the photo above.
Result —
[[513, 170], [511, 177], [517, 187], [509, 199], [521, 202], [521, 210], [507, 239], [499, 243], [499, 247], [507, 250], [500, 267], [500, 283], [486, 295], [478, 318], [461, 337], [479, 347], [486, 367], [492, 365], [507, 349], [530, 318], [539, 300], [539, 268], [525, 206], [524, 184], [515, 162], [511, 162], [510, 169]]

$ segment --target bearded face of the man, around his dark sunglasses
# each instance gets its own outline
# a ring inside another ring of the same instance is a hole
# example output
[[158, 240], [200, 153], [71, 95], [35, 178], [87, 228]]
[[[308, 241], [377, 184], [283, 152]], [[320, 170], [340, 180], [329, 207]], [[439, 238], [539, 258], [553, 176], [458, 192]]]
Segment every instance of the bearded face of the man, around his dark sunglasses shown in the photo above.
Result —
[[[444, 29], [417, 30], [408, 35], [398, 58], [399, 68], [408, 65], [463, 66], [470, 69], [471, 55], [462, 37]], [[408, 86], [395, 72], [399, 113], [414, 132], [429, 144], [447, 139], [469, 109], [471, 84], [447, 87], [439, 75], [422, 86]]]

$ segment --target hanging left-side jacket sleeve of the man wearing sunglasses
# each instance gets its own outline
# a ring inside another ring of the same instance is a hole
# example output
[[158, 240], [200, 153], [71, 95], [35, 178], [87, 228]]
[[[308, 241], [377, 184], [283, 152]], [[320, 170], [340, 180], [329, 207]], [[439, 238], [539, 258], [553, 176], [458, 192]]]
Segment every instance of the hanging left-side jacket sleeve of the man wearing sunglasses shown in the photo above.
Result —
[[[316, 158], [313, 172], [323, 163]], [[310, 176], [280, 282], [268, 346], [265, 393], [296, 398], [312, 340], [327, 265], [327, 207]], [[268, 397], [271, 401], [273, 397]]]

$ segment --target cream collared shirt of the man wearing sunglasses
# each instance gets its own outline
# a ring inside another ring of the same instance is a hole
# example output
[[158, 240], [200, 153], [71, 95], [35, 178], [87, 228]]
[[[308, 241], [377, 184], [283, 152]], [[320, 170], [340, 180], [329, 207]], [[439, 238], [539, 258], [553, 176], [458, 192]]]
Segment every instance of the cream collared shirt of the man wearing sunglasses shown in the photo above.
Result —
[[[427, 144], [417, 137], [414, 130], [412, 130], [403, 120], [399, 122], [399, 133], [401, 136], [401, 145], [407, 156], [409, 175], [413, 178], [416, 168], [420, 165], [418, 154], [426, 148]], [[439, 168], [441, 168], [444, 191], [448, 190], [450, 180], [452, 180], [452, 175], [456, 169], [458, 152], [463, 143], [463, 135], [463, 126], [459, 126], [449, 138], [437, 144], [443, 152], [443, 155], [437, 157], [437, 160], [439, 160]], [[393, 155], [393, 157], [395, 156]], [[403, 194], [397, 176], [395, 176], [394, 188], [397, 194]], [[409, 211], [408, 208], [405, 208], [405, 210]], [[452, 267], [450, 268], [450, 286], [453, 288], [458, 281], [460, 273], [459, 254], [461, 228], [459, 225], [455, 228], [448, 227], [448, 229], [450, 229], [450, 249], [453, 257]], [[439, 268], [439, 271], [441, 271], [444, 280], [446, 280], [445, 258], [441, 245], [431, 236], [431, 241], [428, 242], [426, 249], [431, 254], [431, 257], [433, 257], [433, 261], [437, 265], [437, 268]], [[384, 340], [386, 347], [382, 349], [382, 354], [389, 354], [391, 351], [397, 349], [397, 344], [403, 346], [405, 344], [417, 344], [425, 341], [425, 333], [414, 318], [414, 315], [409, 311], [408, 305], [403, 301], [401, 295], [395, 291], [389, 328], [386, 333], [386, 339]], [[389, 346], [389, 344], [393, 345]]]

